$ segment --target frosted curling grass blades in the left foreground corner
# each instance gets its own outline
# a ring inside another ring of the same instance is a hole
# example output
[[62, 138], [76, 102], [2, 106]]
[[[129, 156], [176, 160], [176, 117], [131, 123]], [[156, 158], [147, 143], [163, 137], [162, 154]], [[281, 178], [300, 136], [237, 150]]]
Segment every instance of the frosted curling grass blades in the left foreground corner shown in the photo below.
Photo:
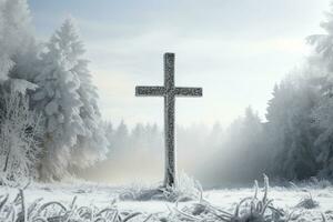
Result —
[[125, 222], [133, 218], [144, 216], [141, 212], [122, 211], [120, 212], [114, 204], [98, 209], [95, 206], [80, 206], [75, 203], [77, 196], [73, 198], [69, 205], [59, 201], [42, 202], [42, 198], [27, 204], [24, 192], [20, 190], [13, 201], [9, 201], [9, 195], [1, 196], [0, 201], [0, 221], [28, 221], [28, 222], [48, 222], [48, 221], [113, 221]]

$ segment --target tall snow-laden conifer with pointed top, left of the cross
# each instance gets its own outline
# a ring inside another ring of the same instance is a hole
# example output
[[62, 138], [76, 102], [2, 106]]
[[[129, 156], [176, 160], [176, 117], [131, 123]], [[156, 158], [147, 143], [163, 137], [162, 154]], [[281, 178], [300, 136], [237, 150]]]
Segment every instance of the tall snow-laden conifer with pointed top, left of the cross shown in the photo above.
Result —
[[[33, 105], [46, 117], [42, 178], [60, 179], [72, 168], [104, 158], [108, 140], [83, 44], [71, 19], [52, 36], [41, 54]], [[49, 176], [50, 175], [50, 176]]]

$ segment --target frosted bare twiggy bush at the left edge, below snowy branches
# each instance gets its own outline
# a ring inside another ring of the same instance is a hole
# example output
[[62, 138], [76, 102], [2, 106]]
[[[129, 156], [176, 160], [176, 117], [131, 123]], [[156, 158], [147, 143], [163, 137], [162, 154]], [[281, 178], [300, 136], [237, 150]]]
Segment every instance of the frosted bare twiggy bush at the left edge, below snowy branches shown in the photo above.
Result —
[[40, 115], [29, 109], [28, 98], [3, 92], [0, 110], [0, 184], [20, 184], [37, 178], [42, 149]]

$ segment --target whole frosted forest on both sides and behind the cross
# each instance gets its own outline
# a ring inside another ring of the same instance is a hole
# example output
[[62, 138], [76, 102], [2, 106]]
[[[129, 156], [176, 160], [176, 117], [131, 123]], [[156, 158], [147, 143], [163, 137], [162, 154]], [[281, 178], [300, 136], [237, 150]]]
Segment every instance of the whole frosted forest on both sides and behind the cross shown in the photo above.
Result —
[[[229, 127], [178, 127], [180, 165], [209, 186], [246, 183], [262, 173], [332, 179], [333, 7], [321, 27], [325, 34], [306, 38], [313, 49], [306, 61], [272, 85], [264, 120], [249, 107]], [[138, 153], [163, 161], [158, 125], [129, 129], [102, 120], [71, 19], [47, 42], [31, 30], [27, 0], [0, 1], [1, 184], [61, 180]]]

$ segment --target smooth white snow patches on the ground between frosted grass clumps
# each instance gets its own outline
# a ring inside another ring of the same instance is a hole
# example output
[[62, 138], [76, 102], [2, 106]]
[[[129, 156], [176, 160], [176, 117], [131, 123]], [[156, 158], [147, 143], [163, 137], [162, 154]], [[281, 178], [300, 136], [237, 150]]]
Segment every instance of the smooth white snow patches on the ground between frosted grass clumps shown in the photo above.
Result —
[[[138, 189], [138, 188], [135, 188]], [[99, 209], [108, 208], [115, 202], [120, 211], [139, 211], [151, 213], [165, 213], [170, 209], [175, 208], [175, 203], [164, 201], [123, 201], [120, 196], [130, 191], [133, 186], [109, 186], [101, 184], [85, 183], [80, 185], [73, 184], [32, 184], [24, 190], [26, 204], [31, 204], [34, 200], [42, 198], [41, 202], [58, 201], [63, 205], [70, 205], [73, 198], [77, 196], [77, 205], [97, 206]], [[9, 193], [13, 199], [18, 189], [1, 188], [0, 196]], [[233, 213], [236, 204], [246, 196], [253, 196], [253, 189], [222, 189], [204, 191], [203, 198], [212, 205], [219, 206], [228, 212]], [[260, 192], [259, 195], [262, 195]], [[313, 209], [305, 209], [296, 206], [304, 198], [312, 195], [313, 200], [317, 202], [317, 206]], [[287, 212], [294, 212], [295, 221], [323, 221], [322, 214], [325, 215], [326, 221], [333, 221], [333, 186], [322, 185], [303, 185], [281, 188], [273, 186], [269, 190], [269, 199], [273, 199], [273, 205], [278, 209], [284, 209]], [[194, 201], [195, 202], [195, 201]], [[182, 202], [178, 204], [179, 209], [190, 206], [194, 203]]]

